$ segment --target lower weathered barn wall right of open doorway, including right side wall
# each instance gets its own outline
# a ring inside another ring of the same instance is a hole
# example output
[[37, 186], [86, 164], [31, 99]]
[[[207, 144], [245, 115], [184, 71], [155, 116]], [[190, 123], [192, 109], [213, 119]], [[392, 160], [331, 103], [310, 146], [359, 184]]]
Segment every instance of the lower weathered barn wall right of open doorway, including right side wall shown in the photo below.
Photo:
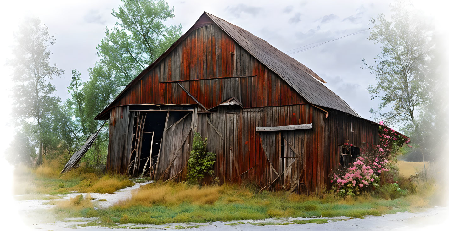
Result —
[[[256, 126], [313, 122], [313, 129], [260, 131]], [[351, 131], [352, 123], [352, 131]], [[329, 187], [338, 167], [338, 144], [377, 144], [377, 125], [339, 111], [328, 118], [311, 105], [277, 106], [198, 114], [198, 132], [207, 137], [207, 151], [216, 153], [221, 182], [255, 180], [261, 187], [311, 192]], [[284, 147], [282, 147], [284, 146]]]

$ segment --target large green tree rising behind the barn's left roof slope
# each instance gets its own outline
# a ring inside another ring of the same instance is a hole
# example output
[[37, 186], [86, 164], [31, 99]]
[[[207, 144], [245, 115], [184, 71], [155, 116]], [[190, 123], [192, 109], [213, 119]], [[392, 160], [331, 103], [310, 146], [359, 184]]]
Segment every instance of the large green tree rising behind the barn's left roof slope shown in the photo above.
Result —
[[[88, 133], [95, 132], [100, 125], [93, 118], [181, 35], [180, 25], [167, 26], [165, 23], [174, 17], [174, 9], [170, 9], [165, 1], [122, 2], [123, 5], [112, 11], [117, 22], [111, 29], [106, 28], [106, 36], [97, 46], [100, 60], [89, 69], [89, 80], [81, 90], [84, 96], [84, 126]], [[98, 153], [90, 154], [95, 150], [107, 152], [104, 145], [108, 139], [107, 127], [103, 130], [86, 158], [90, 156], [92, 160], [104, 160]]]

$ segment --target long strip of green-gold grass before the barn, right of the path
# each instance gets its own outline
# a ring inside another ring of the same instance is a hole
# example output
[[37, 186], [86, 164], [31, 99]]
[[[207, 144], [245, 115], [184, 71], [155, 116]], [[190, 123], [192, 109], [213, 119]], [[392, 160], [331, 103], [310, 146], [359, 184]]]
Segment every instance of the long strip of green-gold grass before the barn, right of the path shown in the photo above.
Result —
[[[124, 223], [166, 224], [178, 222], [211, 222], [258, 220], [285, 217], [363, 218], [404, 211], [414, 211], [429, 205], [433, 185], [417, 187], [416, 193], [394, 200], [365, 193], [341, 198], [332, 194], [288, 195], [287, 192], [259, 192], [251, 185], [189, 186], [185, 183], [151, 183], [133, 192], [128, 200], [92, 212], [72, 210], [66, 216], [98, 217], [101, 225]], [[76, 211], [74, 213], [74, 211]], [[63, 213], [58, 210], [58, 213]], [[327, 222], [317, 219], [303, 222]], [[289, 223], [289, 222], [287, 222]], [[291, 222], [290, 222], [291, 223]], [[268, 225], [268, 224], [265, 224]], [[279, 224], [277, 224], [279, 225]]]

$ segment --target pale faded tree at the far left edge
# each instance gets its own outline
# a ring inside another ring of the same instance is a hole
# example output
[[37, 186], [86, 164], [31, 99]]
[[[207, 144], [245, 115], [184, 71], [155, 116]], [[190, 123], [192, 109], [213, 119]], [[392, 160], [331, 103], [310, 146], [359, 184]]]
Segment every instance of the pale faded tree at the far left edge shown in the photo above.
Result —
[[48, 82], [54, 76], [61, 76], [64, 71], [56, 64], [50, 64], [50, 45], [55, 39], [48, 33], [48, 28], [41, 25], [38, 18], [29, 17], [19, 25], [14, 33], [15, 44], [13, 58], [13, 116], [22, 126], [29, 129], [28, 137], [38, 149], [36, 164], [42, 163], [42, 153], [54, 140], [52, 126], [54, 110], [60, 103], [60, 98], [53, 95], [55, 87]]

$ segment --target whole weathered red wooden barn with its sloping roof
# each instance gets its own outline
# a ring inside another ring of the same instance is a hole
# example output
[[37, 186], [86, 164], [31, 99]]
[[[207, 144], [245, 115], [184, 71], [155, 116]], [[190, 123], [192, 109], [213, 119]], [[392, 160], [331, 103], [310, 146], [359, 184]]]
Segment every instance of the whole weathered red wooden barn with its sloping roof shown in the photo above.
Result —
[[198, 131], [221, 183], [326, 188], [331, 169], [377, 144], [379, 125], [323, 83], [263, 39], [203, 13], [95, 118], [109, 119], [107, 170], [183, 179]]

